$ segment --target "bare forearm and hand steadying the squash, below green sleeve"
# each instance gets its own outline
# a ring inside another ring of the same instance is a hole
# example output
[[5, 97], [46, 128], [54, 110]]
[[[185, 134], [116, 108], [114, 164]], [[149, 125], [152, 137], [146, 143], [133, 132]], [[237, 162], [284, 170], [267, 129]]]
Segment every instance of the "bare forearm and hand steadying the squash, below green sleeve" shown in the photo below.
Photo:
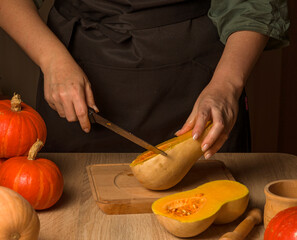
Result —
[[228, 139], [237, 119], [238, 99], [268, 38], [253, 31], [238, 31], [228, 37], [212, 80], [201, 92], [184, 126], [177, 131], [179, 136], [193, 129], [193, 138], [197, 139], [207, 121], [212, 121], [213, 126], [201, 144], [206, 159]]

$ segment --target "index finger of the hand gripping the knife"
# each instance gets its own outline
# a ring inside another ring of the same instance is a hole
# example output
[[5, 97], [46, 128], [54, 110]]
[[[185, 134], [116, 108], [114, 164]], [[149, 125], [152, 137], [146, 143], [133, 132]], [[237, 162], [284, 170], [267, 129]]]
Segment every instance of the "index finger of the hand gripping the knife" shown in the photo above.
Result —
[[91, 124], [88, 117], [88, 107], [85, 100], [84, 91], [79, 88], [77, 93], [74, 95], [74, 109], [75, 114], [78, 118], [79, 124], [83, 131], [90, 132]]

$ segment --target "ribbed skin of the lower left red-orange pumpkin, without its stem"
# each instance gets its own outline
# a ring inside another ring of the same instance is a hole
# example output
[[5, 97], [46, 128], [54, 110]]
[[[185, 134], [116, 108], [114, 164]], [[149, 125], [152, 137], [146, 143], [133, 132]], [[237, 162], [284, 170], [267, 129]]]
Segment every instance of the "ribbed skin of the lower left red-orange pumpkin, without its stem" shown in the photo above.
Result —
[[48, 159], [14, 157], [0, 167], [0, 185], [21, 194], [36, 210], [53, 206], [63, 192], [63, 176]]

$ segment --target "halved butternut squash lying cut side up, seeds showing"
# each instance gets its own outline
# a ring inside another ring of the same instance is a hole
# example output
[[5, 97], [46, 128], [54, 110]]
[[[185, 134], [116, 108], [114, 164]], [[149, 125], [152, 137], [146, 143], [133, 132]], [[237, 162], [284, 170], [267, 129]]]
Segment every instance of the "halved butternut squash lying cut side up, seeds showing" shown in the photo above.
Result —
[[212, 223], [225, 224], [244, 213], [249, 190], [243, 184], [217, 180], [156, 200], [152, 210], [160, 224], [177, 237], [193, 237]]

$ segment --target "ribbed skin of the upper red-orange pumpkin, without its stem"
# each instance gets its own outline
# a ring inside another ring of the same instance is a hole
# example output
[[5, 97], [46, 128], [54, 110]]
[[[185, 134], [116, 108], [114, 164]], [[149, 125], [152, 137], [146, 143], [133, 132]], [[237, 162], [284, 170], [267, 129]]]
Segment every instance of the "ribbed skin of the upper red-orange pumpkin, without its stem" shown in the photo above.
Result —
[[46, 140], [46, 125], [39, 113], [25, 103], [21, 107], [15, 112], [10, 100], [0, 101], [0, 158], [26, 155], [37, 138]]

